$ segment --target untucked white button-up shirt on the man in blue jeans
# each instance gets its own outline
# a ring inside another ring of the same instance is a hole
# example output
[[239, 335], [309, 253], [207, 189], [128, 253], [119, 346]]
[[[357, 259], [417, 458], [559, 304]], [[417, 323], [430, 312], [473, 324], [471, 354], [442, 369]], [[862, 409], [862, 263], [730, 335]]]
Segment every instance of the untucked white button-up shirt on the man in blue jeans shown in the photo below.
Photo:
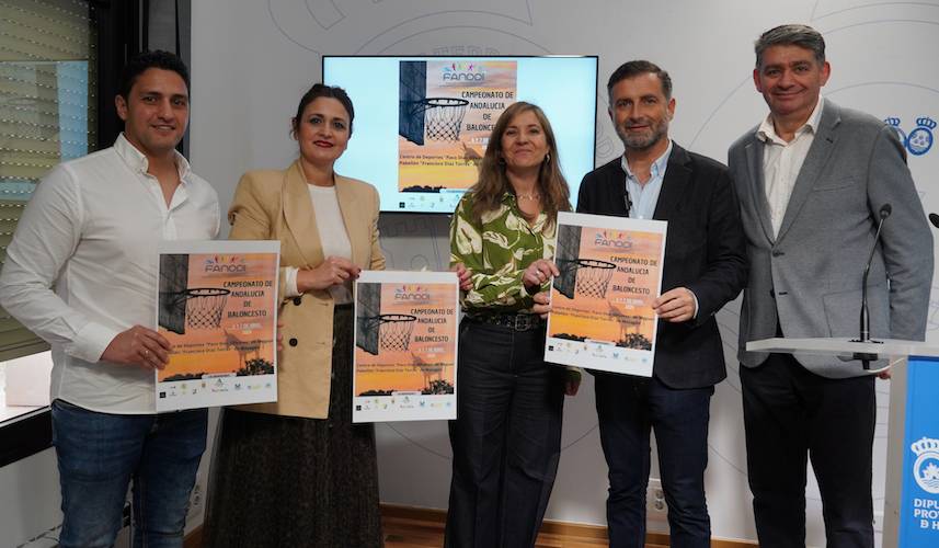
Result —
[[167, 206], [124, 135], [60, 163], [36, 187], [0, 274], [0, 304], [53, 347], [51, 398], [92, 411], [154, 412], [153, 369], [100, 361], [122, 331], [157, 323], [157, 243], [218, 233], [215, 190], [176, 155]]

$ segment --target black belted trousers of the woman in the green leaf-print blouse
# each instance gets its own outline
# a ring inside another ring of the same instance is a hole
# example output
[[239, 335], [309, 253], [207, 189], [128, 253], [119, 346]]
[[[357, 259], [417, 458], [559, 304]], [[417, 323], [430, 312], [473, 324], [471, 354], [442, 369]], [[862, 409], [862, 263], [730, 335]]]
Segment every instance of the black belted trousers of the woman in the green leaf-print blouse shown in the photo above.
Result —
[[534, 546], [561, 455], [564, 369], [545, 363], [543, 329], [465, 319], [459, 346], [445, 546]]

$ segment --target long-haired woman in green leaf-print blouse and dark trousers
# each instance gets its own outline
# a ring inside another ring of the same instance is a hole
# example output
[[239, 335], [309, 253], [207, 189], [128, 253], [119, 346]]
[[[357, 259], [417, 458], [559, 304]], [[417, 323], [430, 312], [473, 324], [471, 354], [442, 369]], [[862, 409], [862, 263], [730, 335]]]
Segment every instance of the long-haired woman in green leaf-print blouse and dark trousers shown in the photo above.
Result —
[[[545, 113], [518, 102], [495, 123], [477, 184], [450, 226], [461, 304], [446, 546], [534, 546], [561, 453], [564, 393], [580, 375], [545, 363], [545, 292], [558, 212], [570, 210]], [[538, 302], [536, 304], [536, 295]]]

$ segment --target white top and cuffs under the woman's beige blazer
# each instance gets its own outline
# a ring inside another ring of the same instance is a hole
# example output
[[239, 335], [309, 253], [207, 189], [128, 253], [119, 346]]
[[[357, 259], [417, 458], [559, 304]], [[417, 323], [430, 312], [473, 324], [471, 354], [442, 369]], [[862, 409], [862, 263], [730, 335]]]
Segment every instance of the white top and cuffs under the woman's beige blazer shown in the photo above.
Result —
[[[317, 186], [308, 184], [310, 201], [313, 203], [313, 215], [317, 217], [317, 230], [320, 232], [320, 242], [323, 247], [323, 256], [342, 256], [352, 261], [352, 242], [348, 241], [348, 232], [345, 230], [345, 221], [342, 219], [342, 210], [339, 207], [339, 198], [335, 194], [335, 185]], [[286, 271], [286, 283], [284, 284], [286, 297], [297, 297], [297, 273], [300, 269], [294, 266]], [[352, 302], [352, 282], [343, 285], [333, 285], [329, 288], [336, 305]]]

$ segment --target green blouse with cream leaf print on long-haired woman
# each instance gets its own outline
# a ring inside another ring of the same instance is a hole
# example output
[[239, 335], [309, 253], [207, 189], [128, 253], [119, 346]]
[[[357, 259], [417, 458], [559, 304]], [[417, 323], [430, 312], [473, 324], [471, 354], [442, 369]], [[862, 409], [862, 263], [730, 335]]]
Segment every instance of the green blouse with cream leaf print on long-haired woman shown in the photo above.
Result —
[[[505, 193], [499, 208], [476, 222], [473, 196], [463, 195], [450, 224], [450, 266], [462, 263], [472, 272], [472, 289], [461, 292], [467, 312], [515, 312], [535, 304], [522, 274], [538, 259], [552, 259], [558, 224], [549, 226], [542, 212], [534, 225], [522, 216], [515, 195]], [[542, 289], [548, 288], [548, 282]]]

